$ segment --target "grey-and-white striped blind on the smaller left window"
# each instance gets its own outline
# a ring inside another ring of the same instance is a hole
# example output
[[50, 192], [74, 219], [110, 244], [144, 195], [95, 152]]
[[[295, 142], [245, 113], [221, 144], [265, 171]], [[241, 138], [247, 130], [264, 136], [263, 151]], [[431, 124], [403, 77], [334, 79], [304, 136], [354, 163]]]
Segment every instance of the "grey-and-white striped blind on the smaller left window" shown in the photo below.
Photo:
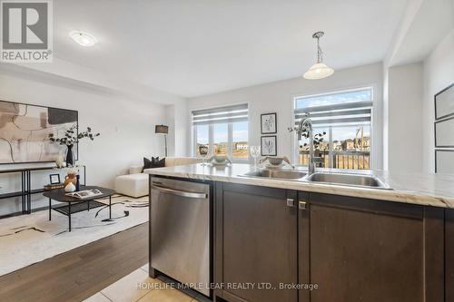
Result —
[[248, 104], [192, 111], [192, 125], [248, 121]]

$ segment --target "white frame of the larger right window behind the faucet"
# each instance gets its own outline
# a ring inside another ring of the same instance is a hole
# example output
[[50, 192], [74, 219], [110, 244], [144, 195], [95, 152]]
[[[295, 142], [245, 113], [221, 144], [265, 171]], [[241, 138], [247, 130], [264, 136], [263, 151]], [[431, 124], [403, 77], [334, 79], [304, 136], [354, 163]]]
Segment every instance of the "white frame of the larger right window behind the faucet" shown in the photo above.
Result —
[[[326, 90], [326, 91], [319, 91], [319, 92], [314, 92], [314, 93], [298, 93], [298, 94], [293, 94], [291, 96], [291, 124], [294, 125], [295, 122], [296, 122], [296, 119], [295, 119], [295, 110], [297, 109], [296, 108], [296, 104], [297, 104], [297, 100], [300, 99], [300, 98], [307, 98], [307, 97], [314, 97], [314, 96], [321, 96], [321, 95], [326, 95], [326, 94], [337, 94], [337, 93], [348, 93], [348, 92], [352, 92], [352, 91], [357, 91], [357, 90], [366, 90], [366, 89], [370, 89], [371, 93], [370, 93], [370, 96], [371, 96], [371, 102], [372, 102], [372, 106], [371, 106], [371, 109], [370, 109], [370, 154], [369, 154], [369, 169], [374, 169], [374, 164], [375, 164], [375, 152], [378, 152], [380, 153], [376, 148], [375, 148], [375, 135], [376, 133], [374, 132], [374, 126], [375, 126], [375, 114], [376, 114], [376, 106], [377, 106], [377, 94], [376, 94], [376, 90], [377, 90], [377, 84], [376, 83], [365, 83], [365, 84], [362, 84], [362, 85], [358, 85], [358, 86], [352, 86], [352, 87], [348, 87], [348, 88], [340, 88], [340, 89], [330, 89], [330, 90]], [[351, 127], [356, 127], [357, 125], [350, 125]], [[326, 167], [327, 169], [331, 169], [332, 167], [332, 128], [333, 127], [337, 127], [337, 126], [327, 126], [329, 129], [331, 129], [330, 132], [327, 132], [327, 135], [328, 135], [328, 139], [329, 141], [331, 142], [331, 148], [330, 148], [330, 151], [329, 151], [329, 162], [330, 162], [330, 167]], [[292, 161], [295, 163], [295, 165], [299, 165], [299, 166], [302, 166], [302, 167], [305, 167], [303, 165], [300, 164], [300, 152], [299, 152], [299, 142], [298, 142], [298, 139], [297, 139], [297, 134], [296, 132], [293, 132], [293, 139], [291, 141], [292, 143]], [[341, 168], [336, 168], [336, 169], [339, 169], [339, 170], [347, 170], [347, 169], [341, 169]]]

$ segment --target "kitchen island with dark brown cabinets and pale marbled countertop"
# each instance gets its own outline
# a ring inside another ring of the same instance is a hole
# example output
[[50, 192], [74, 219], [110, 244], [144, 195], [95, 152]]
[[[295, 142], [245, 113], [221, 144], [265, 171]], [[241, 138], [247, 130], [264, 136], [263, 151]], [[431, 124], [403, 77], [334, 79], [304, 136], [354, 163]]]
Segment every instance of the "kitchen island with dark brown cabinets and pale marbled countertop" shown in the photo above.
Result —
[[146, 170], [212, 186], [214, 300], [454, 301], [453, 176], [367, 172], [387, 190], [253, 169]]

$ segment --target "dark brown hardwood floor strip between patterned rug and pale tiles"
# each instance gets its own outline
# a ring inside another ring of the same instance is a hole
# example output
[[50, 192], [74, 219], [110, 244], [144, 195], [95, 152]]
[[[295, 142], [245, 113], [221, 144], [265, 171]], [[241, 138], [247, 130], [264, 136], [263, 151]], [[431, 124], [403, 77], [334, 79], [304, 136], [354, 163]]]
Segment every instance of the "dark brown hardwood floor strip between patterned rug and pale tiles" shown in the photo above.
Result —
[[148, 222], [0, 277], [0, 301], [83, 301], [147, 262]]

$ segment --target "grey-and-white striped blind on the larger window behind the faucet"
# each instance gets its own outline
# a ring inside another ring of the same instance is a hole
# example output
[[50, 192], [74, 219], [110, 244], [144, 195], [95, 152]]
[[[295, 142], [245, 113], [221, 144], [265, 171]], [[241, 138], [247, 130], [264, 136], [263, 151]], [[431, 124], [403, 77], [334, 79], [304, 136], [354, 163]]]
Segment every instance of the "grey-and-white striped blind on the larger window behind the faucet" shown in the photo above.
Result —
[[372, 117], [371, 88], [299, 97], [295, 101], [295, 124], [310, 113], [317, 126], [370, 125]]

